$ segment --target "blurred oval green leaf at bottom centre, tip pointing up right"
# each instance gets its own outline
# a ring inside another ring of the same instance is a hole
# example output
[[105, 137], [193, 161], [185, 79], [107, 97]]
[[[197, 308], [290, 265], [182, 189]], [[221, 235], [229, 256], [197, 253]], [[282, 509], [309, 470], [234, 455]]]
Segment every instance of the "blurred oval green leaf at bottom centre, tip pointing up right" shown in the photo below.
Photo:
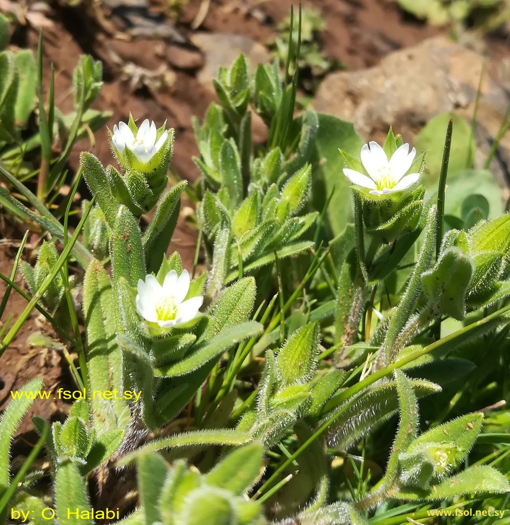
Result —
[[229, 490], [240, 496], [260, 473], [263, 448], [252, 443], [234, 450], [204, 477], [207, 485]]

